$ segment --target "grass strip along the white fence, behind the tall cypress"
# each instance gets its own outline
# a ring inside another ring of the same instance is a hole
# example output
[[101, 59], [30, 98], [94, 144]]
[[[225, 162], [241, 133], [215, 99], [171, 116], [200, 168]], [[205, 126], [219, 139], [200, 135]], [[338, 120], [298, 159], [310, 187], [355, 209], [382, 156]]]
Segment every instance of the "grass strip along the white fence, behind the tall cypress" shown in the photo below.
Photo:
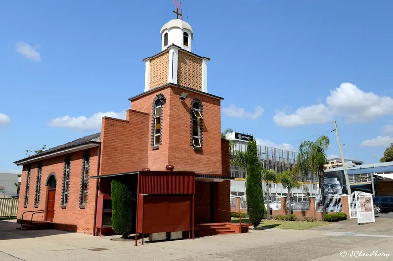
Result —
[[[240, 223], [239, 218], [232, 218], [232, 223]], [[250, 220], [242, 218], [242, 223], [250, 224]], [[265, 220], [261, 221], [258, 228], [280, 228], [280, 229], [311, 229], [324, 226], [329, 223], [323, 221], [307, 222], [307, 221], [284, 221], [284, 220]], [[250, 227], [251, 229], [251, 227]]]

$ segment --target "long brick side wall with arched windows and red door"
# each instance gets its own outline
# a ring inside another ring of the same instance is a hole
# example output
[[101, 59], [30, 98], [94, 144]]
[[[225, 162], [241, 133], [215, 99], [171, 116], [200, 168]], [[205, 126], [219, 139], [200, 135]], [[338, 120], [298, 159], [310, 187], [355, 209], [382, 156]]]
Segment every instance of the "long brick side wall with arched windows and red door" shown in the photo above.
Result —
[[[89, 179], [88, 200], [84, 209], [79, 208], [79, 195], [81, 189], [81, 174], [82, 174], [82, 156], [84, 151], [71, 153], [71, 174], [70, 174], [70, 193], [67, 207], [62, 209], [61, 194], [63, 186], [63, 168], [64, 156], [58, 156], [48, 160], [42, 161], [42, 177], [41, 177], [41, 195], [38, 208], [34, 208], [35, 199], [35, 186], [37, 181], [37, 168], [38, 163], [31, 164], [31, 177], [30, 177], [30, 192], [27, 208], [23, 207], [25, 199], [25, 187], [28, 166], [23, 166], [21, 177], [21, 190], [20, 201], [18, 205], [18, 219], [24, 211], [30, 210], [46, 210], [47, 207], [47, 192], [48, 187], [46, 181], [51, 172], [55, 172], [57, 178], [56, 195], [55, 195], [55, 214], [53, 222], [56, 229], [68, 230], [73, 232], [81, 232], [86, 234], [93, 233], [94, 223], [94, 206], [95, 206], [95, 193], [96, 193], [96, 179]], [[97, 174], [97, 159], [98, 148], [90, 149], [90, 176]], [[31, 220], [31, 213], [27, 213], [23, 217], [24, 220]], [[34, 215], [34, 220], [45, 221], [44, 214]]]

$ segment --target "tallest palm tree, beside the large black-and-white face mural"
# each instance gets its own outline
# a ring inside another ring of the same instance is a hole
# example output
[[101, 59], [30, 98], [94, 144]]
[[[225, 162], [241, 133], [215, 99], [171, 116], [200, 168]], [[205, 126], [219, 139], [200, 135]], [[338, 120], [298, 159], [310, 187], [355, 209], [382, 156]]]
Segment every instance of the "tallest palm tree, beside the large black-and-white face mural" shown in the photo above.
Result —
[[329, 147], [329, 138], [321, 136], [315, 142], [304, 141], [299, 145], [297, 165], [301, 173], [318, 174], [319, 188], [321, 191], [323, 215], [326, 214], [325, 191], [323, 189], [324, 164], [326, 163], [326, 151]]

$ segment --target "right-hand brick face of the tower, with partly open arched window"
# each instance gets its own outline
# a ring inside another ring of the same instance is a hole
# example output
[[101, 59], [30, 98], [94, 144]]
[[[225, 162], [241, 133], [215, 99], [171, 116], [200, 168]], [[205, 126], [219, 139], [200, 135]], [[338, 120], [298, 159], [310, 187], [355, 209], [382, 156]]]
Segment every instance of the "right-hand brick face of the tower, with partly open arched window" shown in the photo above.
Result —
[[[194, 171], [201, 174], [221, 175], [221, 111], [220, 100], [203, 94], [186, 91], [189, 95], [180, 102], [185, 90], [170, 88], [169, 110], [169, 164], [177, 171]], [[203, 105], [203, 146], [195, 151], [191, 142], [190, 103], [199, 99]]]

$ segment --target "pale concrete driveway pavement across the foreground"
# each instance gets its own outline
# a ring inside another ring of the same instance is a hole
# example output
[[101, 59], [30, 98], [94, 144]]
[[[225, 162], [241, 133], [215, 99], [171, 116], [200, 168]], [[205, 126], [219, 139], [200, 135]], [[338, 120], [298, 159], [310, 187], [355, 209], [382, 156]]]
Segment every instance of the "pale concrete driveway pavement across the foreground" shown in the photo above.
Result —
[[[393, 259], [391, 219], [358, 226], [356, 220], [326, 225], [313, 230], [265, 229], [245, 234], [220, 235], [146, 243], [111, 241], [57, 230], [20, 231], [17, 224], [0, 221], [0, 260], [4, 261], [305, 261], [350, 260], [359, 255], [390, 254]], [[377, 225], [375, 225], [377, 224]], [[386, 225], [389, 225], [386, 227]], [[358, 227], [356, 227], [358, 226]], [[356, 231], [360, 228], [359, 231]], [[382, 229], [384, 228], [384, 230]], [[351, 231], [351, 232], [348, 232]], [[346, 256], [344, 252], [346, 251]], [[354, 252], [352, 252], [354, 251]], [[341, 252], [341, 255], [340, 255]], [[353, 258], [353, 257], [352, 257]], [[356, 260], [385, 260], [361, 256]]]

